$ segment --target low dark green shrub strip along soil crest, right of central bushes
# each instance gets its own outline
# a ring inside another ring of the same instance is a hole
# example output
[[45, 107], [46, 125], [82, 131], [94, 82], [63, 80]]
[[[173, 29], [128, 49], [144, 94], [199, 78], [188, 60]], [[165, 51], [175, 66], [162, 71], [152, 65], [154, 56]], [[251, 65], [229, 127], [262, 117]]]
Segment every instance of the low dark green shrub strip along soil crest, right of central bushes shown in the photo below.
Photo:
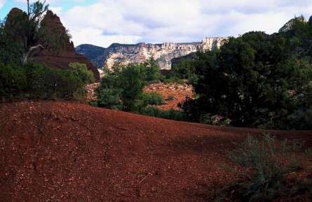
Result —
[[142, 115], [147, 115], [150, 117], [158, 117], [168, 120], [186, 121], [188, 117], [183, 112], [176, 110], [160, 110], [153, 106], [148, 106], [144, 108], [141, 112]]

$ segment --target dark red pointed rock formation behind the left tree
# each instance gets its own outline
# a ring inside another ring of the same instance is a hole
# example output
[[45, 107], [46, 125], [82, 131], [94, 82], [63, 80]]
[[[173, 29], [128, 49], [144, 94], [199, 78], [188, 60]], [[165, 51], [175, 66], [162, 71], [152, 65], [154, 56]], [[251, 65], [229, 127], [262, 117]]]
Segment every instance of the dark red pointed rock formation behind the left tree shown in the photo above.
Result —
[[97, 68], [91, 64], [91, 62], [83, 55], [77, 55], [74, 48], [74, 43], [70, 41], [67, 36], [67, 31], [60, 21], [60, 17], [55, 15], [52, 11], [48, 10], [46, 16], [43, 18], [43, 22], [49, 27], [48, 31], [57, 31], [60, 36], [65, 36], [67, 44], [64, 50], [60, 52], [52, 52], [50, 50], [42, 50], [35, 58], [35, 62], [46, 64], [50, 67], [67, 68], [72, 62], [79, 62], [86, 64], [88, 69], [93, 71], [96, 81], [100, 81], [100, 73]]

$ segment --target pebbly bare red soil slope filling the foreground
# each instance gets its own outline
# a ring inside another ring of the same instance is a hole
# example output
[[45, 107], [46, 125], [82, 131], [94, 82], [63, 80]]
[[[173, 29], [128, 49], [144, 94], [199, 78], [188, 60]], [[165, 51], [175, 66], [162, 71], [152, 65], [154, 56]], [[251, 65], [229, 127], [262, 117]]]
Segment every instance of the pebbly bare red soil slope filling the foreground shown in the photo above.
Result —
[[[0, 104], [0, 201], [211, 201], [237, 179], [224, 152], [262, 132], [65, 101]], [[312, 131], [266, 132], [312, 145]]]

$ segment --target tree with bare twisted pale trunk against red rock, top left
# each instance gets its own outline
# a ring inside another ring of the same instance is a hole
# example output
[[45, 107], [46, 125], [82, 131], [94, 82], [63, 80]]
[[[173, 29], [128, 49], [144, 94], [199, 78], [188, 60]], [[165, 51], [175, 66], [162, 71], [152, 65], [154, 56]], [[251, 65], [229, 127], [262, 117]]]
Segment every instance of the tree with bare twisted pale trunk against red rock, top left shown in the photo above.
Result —
[[46, 1], [35, 1], [30, 5], [27, 1], [27, 12], [14, 8], [12, 15], [8, 15], [0, 27], [2, 62], [10, 62], [11, 57], [17, 57], [25, 65], [42, 49], [58, 50], [64, 47], [69, 36], [59, 36], [46, 26], [43, 17], [47, 11]]

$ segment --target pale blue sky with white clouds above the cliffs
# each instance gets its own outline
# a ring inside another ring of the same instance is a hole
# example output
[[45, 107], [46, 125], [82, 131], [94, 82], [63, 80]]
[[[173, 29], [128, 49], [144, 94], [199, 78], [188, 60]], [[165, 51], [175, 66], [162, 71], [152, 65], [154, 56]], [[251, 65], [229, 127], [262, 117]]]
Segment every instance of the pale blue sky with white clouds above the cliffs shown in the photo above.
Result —
[[[26, 0], [0, 0], [0, 19]], [[272, 34], [295, 16], [312, 15], [312, 0], [47, 0], [75, 45], [197, 42], [206, 36]]]

